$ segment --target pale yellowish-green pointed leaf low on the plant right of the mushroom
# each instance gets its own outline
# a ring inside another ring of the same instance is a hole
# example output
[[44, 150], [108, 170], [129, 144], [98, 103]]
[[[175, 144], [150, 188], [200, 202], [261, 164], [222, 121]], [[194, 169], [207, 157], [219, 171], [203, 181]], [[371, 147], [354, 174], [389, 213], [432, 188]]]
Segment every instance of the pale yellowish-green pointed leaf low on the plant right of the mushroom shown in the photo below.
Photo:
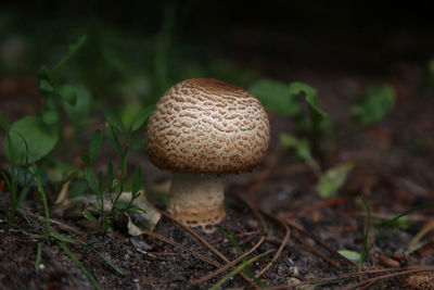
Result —
[[323, 199], [333, 197], [336, 191], [344, 185], [346, 176], [353, 169], [353, 163], [342, 163], [335, 167], [328, 169], [317, 184], [319, 196]]

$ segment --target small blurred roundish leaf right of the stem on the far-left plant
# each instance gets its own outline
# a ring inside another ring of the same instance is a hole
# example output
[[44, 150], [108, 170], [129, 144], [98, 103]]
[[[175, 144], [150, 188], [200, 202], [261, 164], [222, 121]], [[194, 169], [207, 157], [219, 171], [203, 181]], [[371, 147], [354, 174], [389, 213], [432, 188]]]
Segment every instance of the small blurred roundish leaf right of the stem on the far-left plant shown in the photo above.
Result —
[[[68, 86], [69, 87], [69, 86]], [[71, 103], [72, 97], [62, 97], [62, 106], [65, 110], [66, 114], [68, 117], [74, 122], [74, 123], [82, 123], [86, 117], [89, 115], [90, 109], [91, 109], [91, 103], [92, 103], [92, 96], [90, 92], [81, 86], [74, 86], [73, 87], [75, 90], [75, 103]], [[65, 90], [65, 89], [63, 89]], [[71, 88], [68, 88], [69, 92], [66, 92], [66, 90], [63, 92], [64, 94], [66, 93], [72, 93]]]

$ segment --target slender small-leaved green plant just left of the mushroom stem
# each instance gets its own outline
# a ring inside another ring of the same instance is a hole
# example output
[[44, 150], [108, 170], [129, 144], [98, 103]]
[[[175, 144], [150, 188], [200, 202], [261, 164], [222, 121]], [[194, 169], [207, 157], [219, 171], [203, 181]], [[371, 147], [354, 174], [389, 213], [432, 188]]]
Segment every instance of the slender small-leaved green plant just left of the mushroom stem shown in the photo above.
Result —
[[[143, 137], [139, 138], [139, 140], [135, 140], [135, 133], [138, 133], [140, 128], [143, 127], [153, 110], [154, 106], [144, 109], [137, 115], [135, 122], [128, 129], [115, 113], [110, 111], [105, 112], [106, 135], [113, 148], [120, 156], [120, 165], [117, 174], [114, 172], [112, 162], [107, 164], [105, 176], [102, 172], [99, 172], [98, 175], [93, 173], [92, 165], [99, 154], [102, 142], [102, 133], [100, 129], [97, 129], [91, 138], [89, 153], [82, 156], [87, 165], [85, 177], [89, 188], [97, 196], [97, 204], [94, 204], [94, 206], [99, 212], [100, 218], [98, 219], [87, 211], [84, 212], [84, 216], [91, 222], [99, 223], [104, 234], [108, 230], [115, 216], [128, 211], [142, 211], [132, 206], [132, 202], [140, 196], [139, 190], [142, 187], [142, 171], [139, 166], [133, 173], [132, 179], [129, 180], [127, 173], [127, 153], [130, 149], [140, 148], [143, 144]], [[119, 202], [120, 196], [127, 190], [131, 191], [129, 202]], [[106, 209], [107, 202], [110, 203], [108, 211]]]

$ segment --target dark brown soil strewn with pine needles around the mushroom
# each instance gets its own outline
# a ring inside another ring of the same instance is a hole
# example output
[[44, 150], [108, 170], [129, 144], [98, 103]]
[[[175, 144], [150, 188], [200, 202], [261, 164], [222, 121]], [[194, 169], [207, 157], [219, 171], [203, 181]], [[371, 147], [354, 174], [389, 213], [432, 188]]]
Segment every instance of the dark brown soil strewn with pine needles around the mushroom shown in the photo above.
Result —
[[[404, 255], [411, 240], [432, 225], [434, 207], [407, 216], [408, 227], [385, 227], [378, 223], [434, 200], [434, 91], [424, 85], [422, 64], [397, 62], [391, 67], [396, 70], [380, 75], [299, 67], [280, 74], [282, 79], [297, 79], [317, 88], [322, 106], [334, 117], [335, 150], [326, 164], [356, 160], [357, 166], [336, 197], [322, 200], [315, 189], [315, 174], [278, 142], [279, 134], [291, 131], [294, 124], [270, 114], [272, 140], [268, 155], [253, 173], [227, 177], [227, 218], [219, 225], [225, 231], [238, 235], [243, 251], [260, 242], [248, 259], [276, 250], [250, 266], [254, 274], [261, 274], [259, 279], [266, 287], [434, 289], [432, 229], [422, 237], [417, 250]], [[395, 88], [397, 101], [393, 112], [380, 124], [352, 128], [350, 103], [367, 86], [378, 81], [388, 81]], [[26, 88], [21, 88], [23, 83]], [[17, 105], [17, 100], [37, 102], [34, 83], [34, 76], [16, 76], [0, 83], [2, 106], [10, 116], [27, 113], [27, 109]], [[148, 163], [144, 152], [135, 152], [130, 160], [131, 166], [143, 166], [145, 185], [152, 187], [168, 180], [168, 174]], [[56, 194], [49, 192], [50, 204]], [[358, 270], [357, 262], [336, 251], [360, 252], [367, 227], [361, 194], [371, 209], [368, 243], [373, 245], [363, 265], [367, 273], [352, 276]], [[37, 244], [30, 231], [40, 226], [29, 222], [28, 215], [18, 214], [14, 230], [8, 235], [4, 231], [8, 203], [9, 192], [3, 187], [0, 289], [92, 289], [82, 270], [52, 240], [42, 241], [41, 264], [35, 269]], [[36, 194], [29, 194], [24, 212], [43, 215]], [[103, 289], [206, 289], [233, 267], [208, 280], [199, 282], [199, 279], [225, 266], [225, 260], [239, 256], [220, 231], [207, 235], [196, 230], [220, 253], [216, 254], [168, 217], [159, 220], [155, 235], [138, 237], [130, 237], [119, 228], [113, 235], [98, 236], [86, 219], [52, 218], [58, 232], [91, 244], [125, 270], [125, 276], [116, 274], [89, 248], [68, 244]], [[234, 275], [222, 288], [250, 289], [254, 282], [245, 275]]]

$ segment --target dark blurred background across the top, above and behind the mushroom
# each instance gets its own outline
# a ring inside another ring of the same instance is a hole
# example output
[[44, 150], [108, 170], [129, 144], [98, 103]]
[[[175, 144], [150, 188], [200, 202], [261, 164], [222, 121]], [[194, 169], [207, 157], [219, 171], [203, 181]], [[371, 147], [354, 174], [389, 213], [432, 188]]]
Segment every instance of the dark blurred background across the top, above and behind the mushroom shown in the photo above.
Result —
[[[59, 61], [88, 41], [66, 73], [95, 94], [155, 100], [197, 76], [247, 86], [299, 71], [382, 75], [434, 56], [431, 1], [7, 1], [0, 76]], [[125, 98], [123, 98], [125, 99]], [[146, 102], [146, 101], [145, 101]]]

